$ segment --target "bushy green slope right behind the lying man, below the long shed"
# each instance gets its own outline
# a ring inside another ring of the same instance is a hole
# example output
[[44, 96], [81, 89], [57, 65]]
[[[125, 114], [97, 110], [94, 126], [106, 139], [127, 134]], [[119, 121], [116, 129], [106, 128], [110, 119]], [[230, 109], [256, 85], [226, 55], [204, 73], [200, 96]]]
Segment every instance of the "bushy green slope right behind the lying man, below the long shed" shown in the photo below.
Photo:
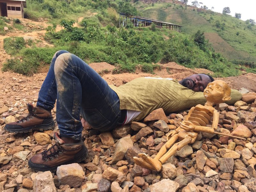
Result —
[[[73, 0], [67, 3], [67, 1], [60, 0], [56, 2], [55, 0], [51, 2], [33, 0], [33, 6], [41, 6], [43, 11], [31, 12], [29, 15], [28, 12], [31, 10], [28, 8], [27, 16], [38, 20], [39, 15], [43, 14], [49, 19], [52, 24], [46, 28], [47, 33], [44, 39], [54, 47], [39, 48], [33, 42], [24, 41], [22, 37], [6, 38], [4, 49], [12, 55], [12, 59], [7, 60], [3, 70], [32, 74], [42, 65], [50, 64], [53, 54], [60, 49], [76, 54], [87, 63], [108, 62], [116, 66], [114, 70], [116, 73], [134, 72], [138, 65], [143, 71], [153, 73], [154, 68], [159, 68], [159, 65], [154, 63], [172, 61], [189, 68], [209, 69], [216, 77], [237, 76], [241, 74], [240, 70], [245, 70], [245, 67], [234, 64], [216, 53], [212, 45], [204, 39], [202, 31], [195, 30], [195, 33], [191, 32], [193, 35], [190, 35], [159, 29], [154, 25], [150, 28], [134, 28], [132, 25], [127, 25], [126, 28], [116, 28], [119, 26], [117, 11], [142, 14], [136, 9], [138, 6], [132, 6], [127, 1], [121, 2], [122, 4], [120, 2]], [[59, 6], [60, 3], [65, 4], [66, 7]], [[79, 11], [76, 11], [75, 5], [79, 5], [76, 7]], [[166, 14], [165, 9], [170, 9], [174, 5], [166, 4], [164, 8], [161, 6], [162, 4], [154, 5], [162, 10], [156, 12], [156, 16], [167, 19], [170, 15]], [[149, 6], [143, 9], [148, 13], [154, 11]], [[186, 11], [194, 12], [184, 7], [181, 8], [181, 6], [177, 10], [181, 12], [179, 16]], [[88, 14], [92, 12], [97, 12], [97, 14]], [[76, 27], [77, 21], [70, 19], [81, 15], [85, 15], [84, 19], [79, 23], [80, 27]], [[181, 17], [180, 22], [185, 16], [187, 14]], [[201, 16], [197, 14], [196, 17]], [[63, 29], [56, 32], [56, 24], [60, 24]]]

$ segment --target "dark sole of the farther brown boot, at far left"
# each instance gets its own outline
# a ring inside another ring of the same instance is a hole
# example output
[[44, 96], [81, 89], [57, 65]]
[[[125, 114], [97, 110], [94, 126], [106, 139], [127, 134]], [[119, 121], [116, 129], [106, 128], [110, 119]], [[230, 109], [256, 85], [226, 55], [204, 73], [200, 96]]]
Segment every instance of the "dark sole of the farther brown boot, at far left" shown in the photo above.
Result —
[[49, 124], [40, 124], [40, 125], [26, 127], [24, 129], [6, 129], [6, 127], [4, 127], [4, 130], [10, 133], [27, 133], [27, 132], [32, 132], [34, 130], [38, 130], [38, 131], [50, 130], [54, 128], [54, 125], [55, 123], [52, 120], [52, 122]]

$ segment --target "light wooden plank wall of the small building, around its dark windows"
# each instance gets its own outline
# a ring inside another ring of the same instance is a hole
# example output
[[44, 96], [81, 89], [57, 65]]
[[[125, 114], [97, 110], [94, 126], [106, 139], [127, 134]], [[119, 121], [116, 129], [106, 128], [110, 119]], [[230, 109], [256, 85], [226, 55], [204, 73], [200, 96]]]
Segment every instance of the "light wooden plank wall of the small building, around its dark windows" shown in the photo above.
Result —
[[[21, 1], [0, 0], [0, 2], [7, 4], [7, 17], [24, 18], [23, 4]], [[8, 6], [11, 7], [11, 10], [8, 10]], [[13, 7], [15, 8], [15, 11], [12, 10]], [[16, 11], [16, 7], [20, 7], [20, 11]]]

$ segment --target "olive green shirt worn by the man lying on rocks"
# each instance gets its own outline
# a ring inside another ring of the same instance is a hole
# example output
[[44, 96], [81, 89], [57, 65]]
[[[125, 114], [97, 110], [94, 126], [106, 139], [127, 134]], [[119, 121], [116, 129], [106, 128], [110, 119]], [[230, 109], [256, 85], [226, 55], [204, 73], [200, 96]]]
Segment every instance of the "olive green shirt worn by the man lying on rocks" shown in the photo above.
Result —
[[[119, 87], [110, 87], [119, 97], [120, 109], [141, 111], [134, 121], [143, 119], [158, 108], [163, 108], [168, 114], [206, 102], [203, 92], [194, 92], [171, 78], [140, 77]], [[232, 89], [231, 100], [226, 103], [233, 104], [241, 98], [242, 94]]]

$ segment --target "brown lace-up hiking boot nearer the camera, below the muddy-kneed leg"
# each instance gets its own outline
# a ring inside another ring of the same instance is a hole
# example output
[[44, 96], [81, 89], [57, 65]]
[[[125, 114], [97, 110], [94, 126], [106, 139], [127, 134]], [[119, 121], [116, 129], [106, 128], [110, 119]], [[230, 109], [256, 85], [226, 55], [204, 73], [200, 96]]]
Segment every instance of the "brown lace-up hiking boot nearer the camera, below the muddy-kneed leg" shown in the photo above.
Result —
[[88, 150], [84, 146], [83, 140], [78, 143], [65, 143], [60, 139], [57, 132], [54, 133], [53, 137], [56, 142], [55, 145], [29, 159], [28, 166], [31, 169], [56, 171], [60, 165], [79, 163], [86, 158]]

